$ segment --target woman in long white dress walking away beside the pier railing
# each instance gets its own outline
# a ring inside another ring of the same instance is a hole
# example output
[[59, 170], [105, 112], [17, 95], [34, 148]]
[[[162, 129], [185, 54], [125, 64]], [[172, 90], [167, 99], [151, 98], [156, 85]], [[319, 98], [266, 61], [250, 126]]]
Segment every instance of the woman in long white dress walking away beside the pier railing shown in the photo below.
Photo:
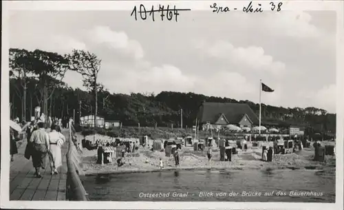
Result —
[[49, 141], [50, 153], [52, 155], [50, 158], [50, 167], [52, 174], [58, 174], [57, 169], [62, 165], [61, 147], [65, 143], [65, 136], [61, 134], [61, 129], [58, 125], [52, 125], [49, 133]]

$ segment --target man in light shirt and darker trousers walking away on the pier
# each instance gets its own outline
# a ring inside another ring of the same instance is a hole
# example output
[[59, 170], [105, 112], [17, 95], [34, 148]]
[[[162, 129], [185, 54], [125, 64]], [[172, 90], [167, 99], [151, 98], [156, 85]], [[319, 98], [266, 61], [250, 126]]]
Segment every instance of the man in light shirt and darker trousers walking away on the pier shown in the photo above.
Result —
[[36, 170], [36, 178], [42, 178], [41, 168], [45, 167], [45, 156], [50, 149], [49, 136], [44, 129], [44, 123], [37, 123], [38, 129], [32, 132], [30, 142], [32, 143], [32, 164]]

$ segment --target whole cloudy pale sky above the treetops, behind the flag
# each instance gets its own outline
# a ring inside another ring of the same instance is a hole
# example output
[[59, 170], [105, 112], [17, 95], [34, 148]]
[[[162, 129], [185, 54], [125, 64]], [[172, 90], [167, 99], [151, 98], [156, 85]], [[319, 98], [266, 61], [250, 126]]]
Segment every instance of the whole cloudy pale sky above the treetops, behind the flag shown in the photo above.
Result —
[[[102, 59], [110, 92], [195, 92], [335, 112], [336, 14], [180, 12], [178, 22], [135, 21], [129, 11], [13, 12], [10, 47]], [[82, 87], [68, 72], [65, 82]]]

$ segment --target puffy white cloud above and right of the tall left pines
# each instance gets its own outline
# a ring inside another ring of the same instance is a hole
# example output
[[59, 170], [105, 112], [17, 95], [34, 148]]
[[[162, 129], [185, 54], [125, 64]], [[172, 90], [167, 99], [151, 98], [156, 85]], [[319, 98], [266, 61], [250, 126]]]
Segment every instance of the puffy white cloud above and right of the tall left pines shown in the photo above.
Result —
[[107, 26], [96, 26], [89, 32], [89, 40], [97, 44], [109, 44], [111, 48], [122, 50], [136, 59], [142, 59], [144, 56], [138, 41], [129, 39], [125, 32], [115, 32]]

